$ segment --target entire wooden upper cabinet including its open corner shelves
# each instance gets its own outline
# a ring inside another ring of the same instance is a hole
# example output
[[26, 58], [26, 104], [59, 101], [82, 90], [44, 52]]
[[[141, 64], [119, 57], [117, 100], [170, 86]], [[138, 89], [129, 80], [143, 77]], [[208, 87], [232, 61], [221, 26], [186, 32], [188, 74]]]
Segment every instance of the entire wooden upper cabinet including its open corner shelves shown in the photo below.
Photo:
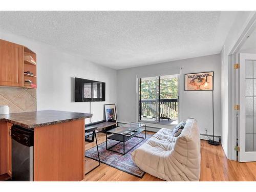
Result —
[[36, 89], [36, 53], [0, 39], [0, 86]]

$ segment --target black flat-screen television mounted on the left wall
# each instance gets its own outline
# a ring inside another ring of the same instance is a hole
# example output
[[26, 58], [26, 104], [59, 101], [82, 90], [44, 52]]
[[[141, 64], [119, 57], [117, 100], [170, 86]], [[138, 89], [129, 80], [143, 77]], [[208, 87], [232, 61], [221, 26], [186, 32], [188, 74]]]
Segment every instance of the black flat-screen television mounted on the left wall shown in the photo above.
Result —
[[75, 78], [75, 102], [105, 101], [105, 83]]

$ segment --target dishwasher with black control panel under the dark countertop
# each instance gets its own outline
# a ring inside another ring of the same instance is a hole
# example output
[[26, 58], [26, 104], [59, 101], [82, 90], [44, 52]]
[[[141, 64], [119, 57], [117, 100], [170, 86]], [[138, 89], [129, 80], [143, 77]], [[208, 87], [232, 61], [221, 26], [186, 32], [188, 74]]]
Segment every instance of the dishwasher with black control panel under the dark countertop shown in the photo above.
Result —
[[34, 180], [34, 131], [13, 125], [12, 138], [12, 180]]

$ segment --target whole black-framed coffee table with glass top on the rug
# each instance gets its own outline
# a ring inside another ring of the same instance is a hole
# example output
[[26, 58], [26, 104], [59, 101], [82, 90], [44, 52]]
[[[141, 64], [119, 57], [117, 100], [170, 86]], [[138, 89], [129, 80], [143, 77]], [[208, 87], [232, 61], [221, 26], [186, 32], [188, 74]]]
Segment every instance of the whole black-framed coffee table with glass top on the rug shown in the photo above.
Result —
[[[145, 132], [144, 137], [137, 136], [141, 132]], [[111, 134], [111, 135], [109, 135], [109, 134]], [[136, 143], [128, 151], [125, 151], [125, 142], [129, 141], [133, 137], [142, 138], [142, 140], [140, 142]], [[145, 124], [142, 124], [142, 123], [127, 123], [127, 124], [124, 124], [122, 126], [116, 127], [115, 129], [106, 131], [106, 150], [125, 155], [126, 153], [130, 152], [135, 146], [137, 146], [139, 143], [141, 143], [145, 138], [146, 138], [146, 125]], [[119, 141], [119, 142], [110, 146], [110, 147], [108, 147], [108, 139]], [[112, 148], [114, 146], [116, 146], [117, 144], [119, 144], [121, 142], [123, 143], [123, 153], [112, 150]]]

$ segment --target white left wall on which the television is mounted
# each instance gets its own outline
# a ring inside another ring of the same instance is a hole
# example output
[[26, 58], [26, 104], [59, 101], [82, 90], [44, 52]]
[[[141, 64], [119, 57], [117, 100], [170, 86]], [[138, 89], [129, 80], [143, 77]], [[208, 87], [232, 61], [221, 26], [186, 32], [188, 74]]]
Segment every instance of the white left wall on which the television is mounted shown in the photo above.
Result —
[[89, 102], [74, 102], [74, 77], [106, 83], [106, 101], [91, 103], [93, 122], [103, 120], [103, 104], [116, 103], [116, 70], [1, 29], [0, 38], [24, 45], [36, 52], [37, 110], [89, 113]]

